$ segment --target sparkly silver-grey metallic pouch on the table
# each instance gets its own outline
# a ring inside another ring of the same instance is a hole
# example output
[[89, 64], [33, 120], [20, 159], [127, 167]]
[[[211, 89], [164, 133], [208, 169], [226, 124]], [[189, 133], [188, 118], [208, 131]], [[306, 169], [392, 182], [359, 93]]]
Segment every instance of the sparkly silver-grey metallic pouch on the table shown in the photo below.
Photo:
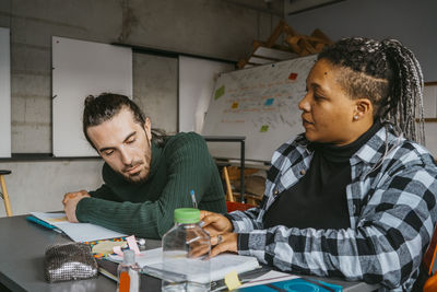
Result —
[[82, 243], [49, 246], [44, 259], [46, 281], [60, 282], [88, 279], [97, 276], [97, 262], [91, 248]]

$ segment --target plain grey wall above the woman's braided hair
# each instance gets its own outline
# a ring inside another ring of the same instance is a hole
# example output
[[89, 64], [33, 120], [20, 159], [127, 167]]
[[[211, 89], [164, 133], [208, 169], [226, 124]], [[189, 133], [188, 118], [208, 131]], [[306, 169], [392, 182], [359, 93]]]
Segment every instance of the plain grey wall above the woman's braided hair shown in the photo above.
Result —
[[290, 15], [286, 21], [302, 34], [320, 28], [333, 40], [398, 38], [416, 55], [425, 81], [437, 81], [436, 11], [435, 0], [347, 0]]

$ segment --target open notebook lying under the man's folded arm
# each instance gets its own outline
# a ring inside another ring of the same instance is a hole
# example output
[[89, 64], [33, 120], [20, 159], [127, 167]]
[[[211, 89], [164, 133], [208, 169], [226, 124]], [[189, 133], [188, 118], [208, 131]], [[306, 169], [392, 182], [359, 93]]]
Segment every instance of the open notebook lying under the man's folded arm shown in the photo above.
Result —
[[99, 240], [125, 237], [123, 233], [108, 230], [91, 223], [71, 223], [66, 213], [31, 212], [32, 215], [66, 233], [74, 242], [93, 242]]

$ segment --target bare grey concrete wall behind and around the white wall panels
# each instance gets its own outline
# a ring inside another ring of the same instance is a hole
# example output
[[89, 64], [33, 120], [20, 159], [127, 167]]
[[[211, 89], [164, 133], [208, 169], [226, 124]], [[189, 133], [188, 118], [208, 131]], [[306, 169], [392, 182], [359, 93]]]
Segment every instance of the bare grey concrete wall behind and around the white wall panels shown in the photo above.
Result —
[[[215, 58], [246, 57], [267, 39], [282, 1], [2, 0], [11, 30], [12, 153], [51, 153], [51, 36], [127, 43]], [[177, 60], [134, 54], [134, 100], [155, 127], [177, 130]], [[0, 161], [14, 214], [61, 209], [66, 191], [93, 189], [102, 161]], [[4, 215], [0, 207], [0, 217]]]

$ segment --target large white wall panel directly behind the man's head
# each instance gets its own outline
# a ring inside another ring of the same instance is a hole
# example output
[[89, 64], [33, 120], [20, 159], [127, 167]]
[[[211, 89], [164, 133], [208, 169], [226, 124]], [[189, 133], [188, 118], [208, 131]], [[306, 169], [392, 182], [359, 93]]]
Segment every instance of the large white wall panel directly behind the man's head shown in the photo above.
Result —
[[82, 132], [83, 101], [103, 92], [132, 98], [132, 50], [52, 37], [54, 155], [95, 156]]

